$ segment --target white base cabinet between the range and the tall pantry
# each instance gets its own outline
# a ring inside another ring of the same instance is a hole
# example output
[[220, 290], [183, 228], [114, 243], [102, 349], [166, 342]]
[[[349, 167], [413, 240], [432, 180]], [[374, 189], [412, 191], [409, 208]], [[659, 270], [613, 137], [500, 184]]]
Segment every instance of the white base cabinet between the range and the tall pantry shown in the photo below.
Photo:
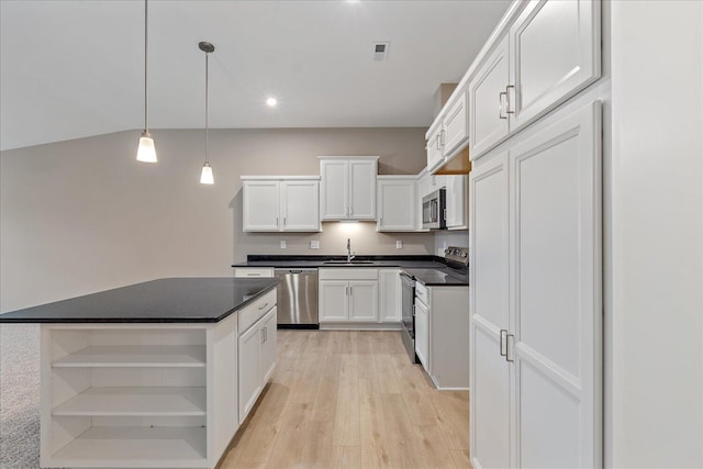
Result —
[[468, 287], [415, 283], [415, 354], [437, 389], [469, 389]]

